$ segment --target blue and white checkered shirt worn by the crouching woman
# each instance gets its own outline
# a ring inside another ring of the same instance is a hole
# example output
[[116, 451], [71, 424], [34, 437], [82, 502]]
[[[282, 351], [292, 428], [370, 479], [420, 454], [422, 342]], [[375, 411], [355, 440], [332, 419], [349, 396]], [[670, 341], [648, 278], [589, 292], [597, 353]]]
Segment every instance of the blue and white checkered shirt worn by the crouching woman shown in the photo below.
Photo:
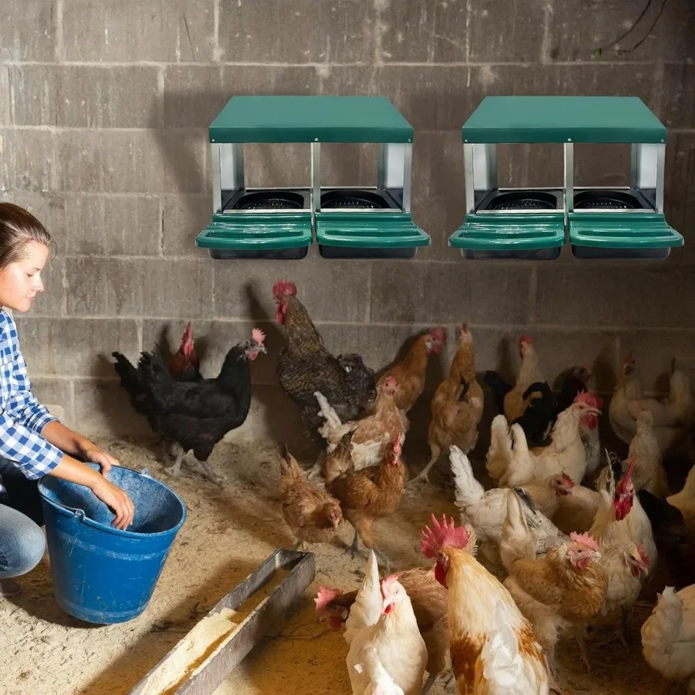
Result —
[[[0, 456], [9, 459], [30, 479], [52, 471], [63, 452], [41, 436], [41, 430], [56, 420], [33, 393], [26, 363], [19, 351], [17, 326], [0, 311]], [[6, 489], [0, 479], [0, 497]]]

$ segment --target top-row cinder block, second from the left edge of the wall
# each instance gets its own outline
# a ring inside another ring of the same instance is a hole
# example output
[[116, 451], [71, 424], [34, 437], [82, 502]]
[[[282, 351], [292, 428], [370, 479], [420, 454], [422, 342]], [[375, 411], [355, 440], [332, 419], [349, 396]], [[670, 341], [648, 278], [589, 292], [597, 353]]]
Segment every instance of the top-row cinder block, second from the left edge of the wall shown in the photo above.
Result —
[[207, 0], [70, 0], [63, 6], [65, 60], [208, 62], [213, 42], [214, 8]]

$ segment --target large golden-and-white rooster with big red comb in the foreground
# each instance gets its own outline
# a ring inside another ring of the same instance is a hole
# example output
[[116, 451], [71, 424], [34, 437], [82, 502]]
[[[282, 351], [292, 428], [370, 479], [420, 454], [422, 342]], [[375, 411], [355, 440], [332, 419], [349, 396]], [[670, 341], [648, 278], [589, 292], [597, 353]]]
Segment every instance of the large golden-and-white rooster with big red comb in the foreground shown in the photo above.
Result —
[[459, 694], [547, 695], [546, 656], [509, 591], [470, 550], [454, 520], [423, 530], [420, 550], [436, 559], [434, 576], [448, 588], [449, 649]]

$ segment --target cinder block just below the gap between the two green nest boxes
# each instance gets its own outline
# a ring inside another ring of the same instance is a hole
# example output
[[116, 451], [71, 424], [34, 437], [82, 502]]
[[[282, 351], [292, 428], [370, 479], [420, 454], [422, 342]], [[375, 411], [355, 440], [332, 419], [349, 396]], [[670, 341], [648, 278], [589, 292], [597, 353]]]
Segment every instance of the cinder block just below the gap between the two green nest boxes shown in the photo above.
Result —
[[[371, 320], [450, 323], [465, 311], [471, 323], [523, 323], [529, 313], [530, 268], [514, 263], [378, 263]], [[484, 289], [483, 289], [484, 288]]]

